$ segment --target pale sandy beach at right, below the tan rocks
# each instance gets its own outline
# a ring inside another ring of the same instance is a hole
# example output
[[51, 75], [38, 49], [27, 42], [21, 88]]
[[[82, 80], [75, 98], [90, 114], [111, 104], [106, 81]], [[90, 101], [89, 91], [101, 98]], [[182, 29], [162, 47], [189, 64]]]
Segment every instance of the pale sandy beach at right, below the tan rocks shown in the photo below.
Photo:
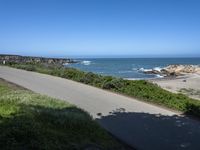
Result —
[[168, 77], [149, 80], [160, 87], [174, 93], [183, 93], [200, 100], [200, 74], [185, 74], [178, 77]]

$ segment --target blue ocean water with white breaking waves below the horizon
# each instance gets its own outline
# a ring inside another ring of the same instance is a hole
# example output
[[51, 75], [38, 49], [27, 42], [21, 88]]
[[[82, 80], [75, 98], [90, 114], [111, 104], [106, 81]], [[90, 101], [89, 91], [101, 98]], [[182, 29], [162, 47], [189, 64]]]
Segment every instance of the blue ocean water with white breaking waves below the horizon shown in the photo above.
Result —
[[162, 78], [160, 75], [145, 74], [145, 69], [161, 69], [171, 64], [200, 65], [200, 58], [81, 58], [79, 63], [69, 64], [86, 72], [111, 75], [126, 79]]

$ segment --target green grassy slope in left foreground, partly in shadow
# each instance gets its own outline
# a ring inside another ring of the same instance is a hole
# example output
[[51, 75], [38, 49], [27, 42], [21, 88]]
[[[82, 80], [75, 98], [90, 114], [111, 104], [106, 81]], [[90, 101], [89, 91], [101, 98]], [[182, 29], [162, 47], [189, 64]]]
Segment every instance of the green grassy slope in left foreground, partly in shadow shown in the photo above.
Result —
[[88, 113], [0, 80], [0, 149], [123, 149]]

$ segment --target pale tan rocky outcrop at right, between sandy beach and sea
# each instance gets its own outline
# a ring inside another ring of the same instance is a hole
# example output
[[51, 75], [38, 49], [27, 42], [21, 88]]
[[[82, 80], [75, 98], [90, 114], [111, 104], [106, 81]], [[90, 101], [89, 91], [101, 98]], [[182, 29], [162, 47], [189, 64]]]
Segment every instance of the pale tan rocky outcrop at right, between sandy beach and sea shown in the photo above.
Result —
[[159, 74], [164, 76], [179, 76], [188, 73], [200, 73], [199, 65], [169, 65], [163, 69], [151, 69], [144, 71], [146, 74]]

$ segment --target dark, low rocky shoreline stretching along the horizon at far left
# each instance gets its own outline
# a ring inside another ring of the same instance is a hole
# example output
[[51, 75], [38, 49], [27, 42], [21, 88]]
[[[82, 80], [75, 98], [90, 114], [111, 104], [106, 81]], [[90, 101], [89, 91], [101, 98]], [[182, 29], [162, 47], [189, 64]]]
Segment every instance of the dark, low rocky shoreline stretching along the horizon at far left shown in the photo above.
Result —
[[31, 57], [31, 56], [20, 56], [20, 55], [0, 55], [0, 63], [43, 63], [43, 64], [54, 64], [63, 65], [68, 63], [76, 63], [72, 59], [66, 58], [46, 58], [46, 57]]

